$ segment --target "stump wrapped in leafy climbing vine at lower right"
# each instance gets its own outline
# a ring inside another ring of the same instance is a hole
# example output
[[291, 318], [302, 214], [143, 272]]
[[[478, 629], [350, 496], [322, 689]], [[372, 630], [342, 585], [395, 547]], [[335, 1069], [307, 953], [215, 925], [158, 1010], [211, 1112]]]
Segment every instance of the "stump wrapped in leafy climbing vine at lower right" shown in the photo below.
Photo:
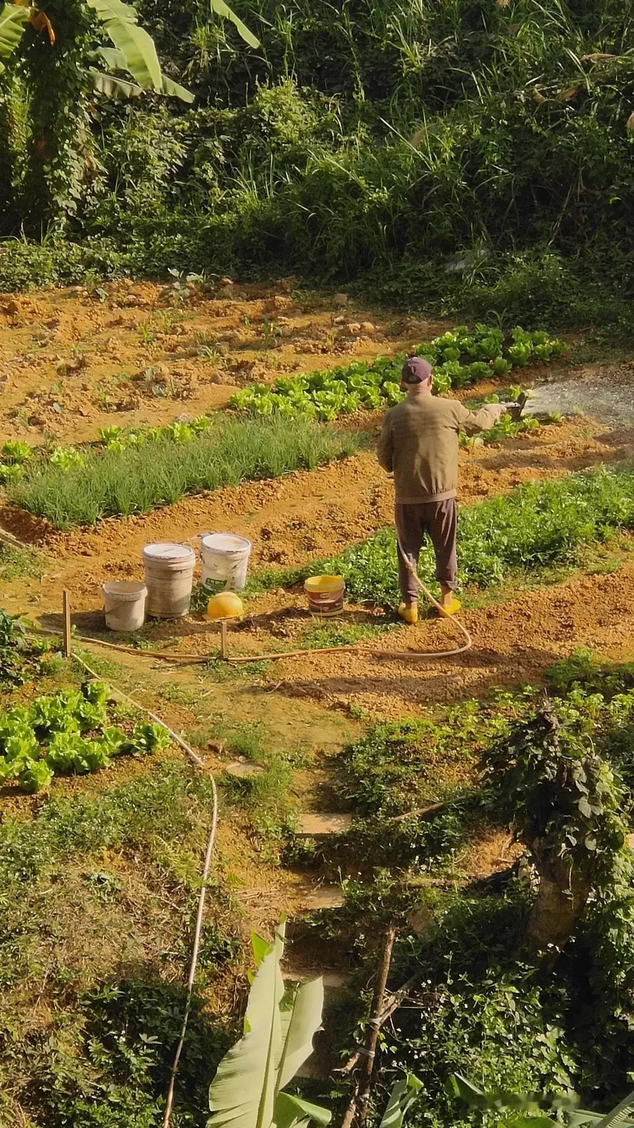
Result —
[[625, 851], [624, 788], [596, 752], [587, 698], [553, 703], [532, 714], [481, 758], [500, 818], [529, 854], [538, 890], [527, 938], [537, 950], [560, 949], [592, 891], [614, 888], [631, 870]]

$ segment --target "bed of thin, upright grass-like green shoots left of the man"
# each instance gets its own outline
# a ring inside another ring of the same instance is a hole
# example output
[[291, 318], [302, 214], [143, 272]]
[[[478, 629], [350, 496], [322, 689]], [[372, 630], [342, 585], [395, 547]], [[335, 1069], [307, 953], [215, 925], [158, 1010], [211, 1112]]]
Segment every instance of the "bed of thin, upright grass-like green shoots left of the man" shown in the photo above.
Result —
[[77, 469], [51, 465], [35, 469], [9, 497], [55, 528], [70, 529], [104, 517], [148, 513], [186, 494], [313, 469], [354, 453], [361, 441], [363, 435], [304, 420], [223, 418], [189, 442], [158, 440], [89, 453]]

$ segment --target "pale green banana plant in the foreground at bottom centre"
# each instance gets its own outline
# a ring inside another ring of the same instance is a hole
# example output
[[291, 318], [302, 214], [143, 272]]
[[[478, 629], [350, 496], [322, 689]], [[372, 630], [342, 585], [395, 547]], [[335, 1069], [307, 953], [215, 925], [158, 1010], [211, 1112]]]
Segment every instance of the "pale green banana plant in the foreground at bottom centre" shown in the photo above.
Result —
[[[207, 1128], [325, 1128], [332, 1118], [328, 1109], [284, 1092], [313, 1051], [323, 1010], [321, 978], [294, 993], [285, 990], [279, 968], [284, 941], [284, 922], [273, 944], [252, 937], [257, 972], [244, 1034], [224, 1056], [209, 1086]], [[396, 1083], [381, 1128], [401, 1128], [420, 1087], [412, 1076]]]

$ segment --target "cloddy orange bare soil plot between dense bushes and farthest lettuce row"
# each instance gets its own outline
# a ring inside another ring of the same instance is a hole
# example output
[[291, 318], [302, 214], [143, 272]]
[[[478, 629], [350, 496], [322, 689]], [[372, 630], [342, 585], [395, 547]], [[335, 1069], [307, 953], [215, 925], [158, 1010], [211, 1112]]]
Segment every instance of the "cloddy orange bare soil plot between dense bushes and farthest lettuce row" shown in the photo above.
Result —
[[0, 296], [0, 437], [77, 443], [102, 426], [168, 423], [252, 380], [405, 349], [435, 328], [286, 290], [176, 306], [146, 282]]

